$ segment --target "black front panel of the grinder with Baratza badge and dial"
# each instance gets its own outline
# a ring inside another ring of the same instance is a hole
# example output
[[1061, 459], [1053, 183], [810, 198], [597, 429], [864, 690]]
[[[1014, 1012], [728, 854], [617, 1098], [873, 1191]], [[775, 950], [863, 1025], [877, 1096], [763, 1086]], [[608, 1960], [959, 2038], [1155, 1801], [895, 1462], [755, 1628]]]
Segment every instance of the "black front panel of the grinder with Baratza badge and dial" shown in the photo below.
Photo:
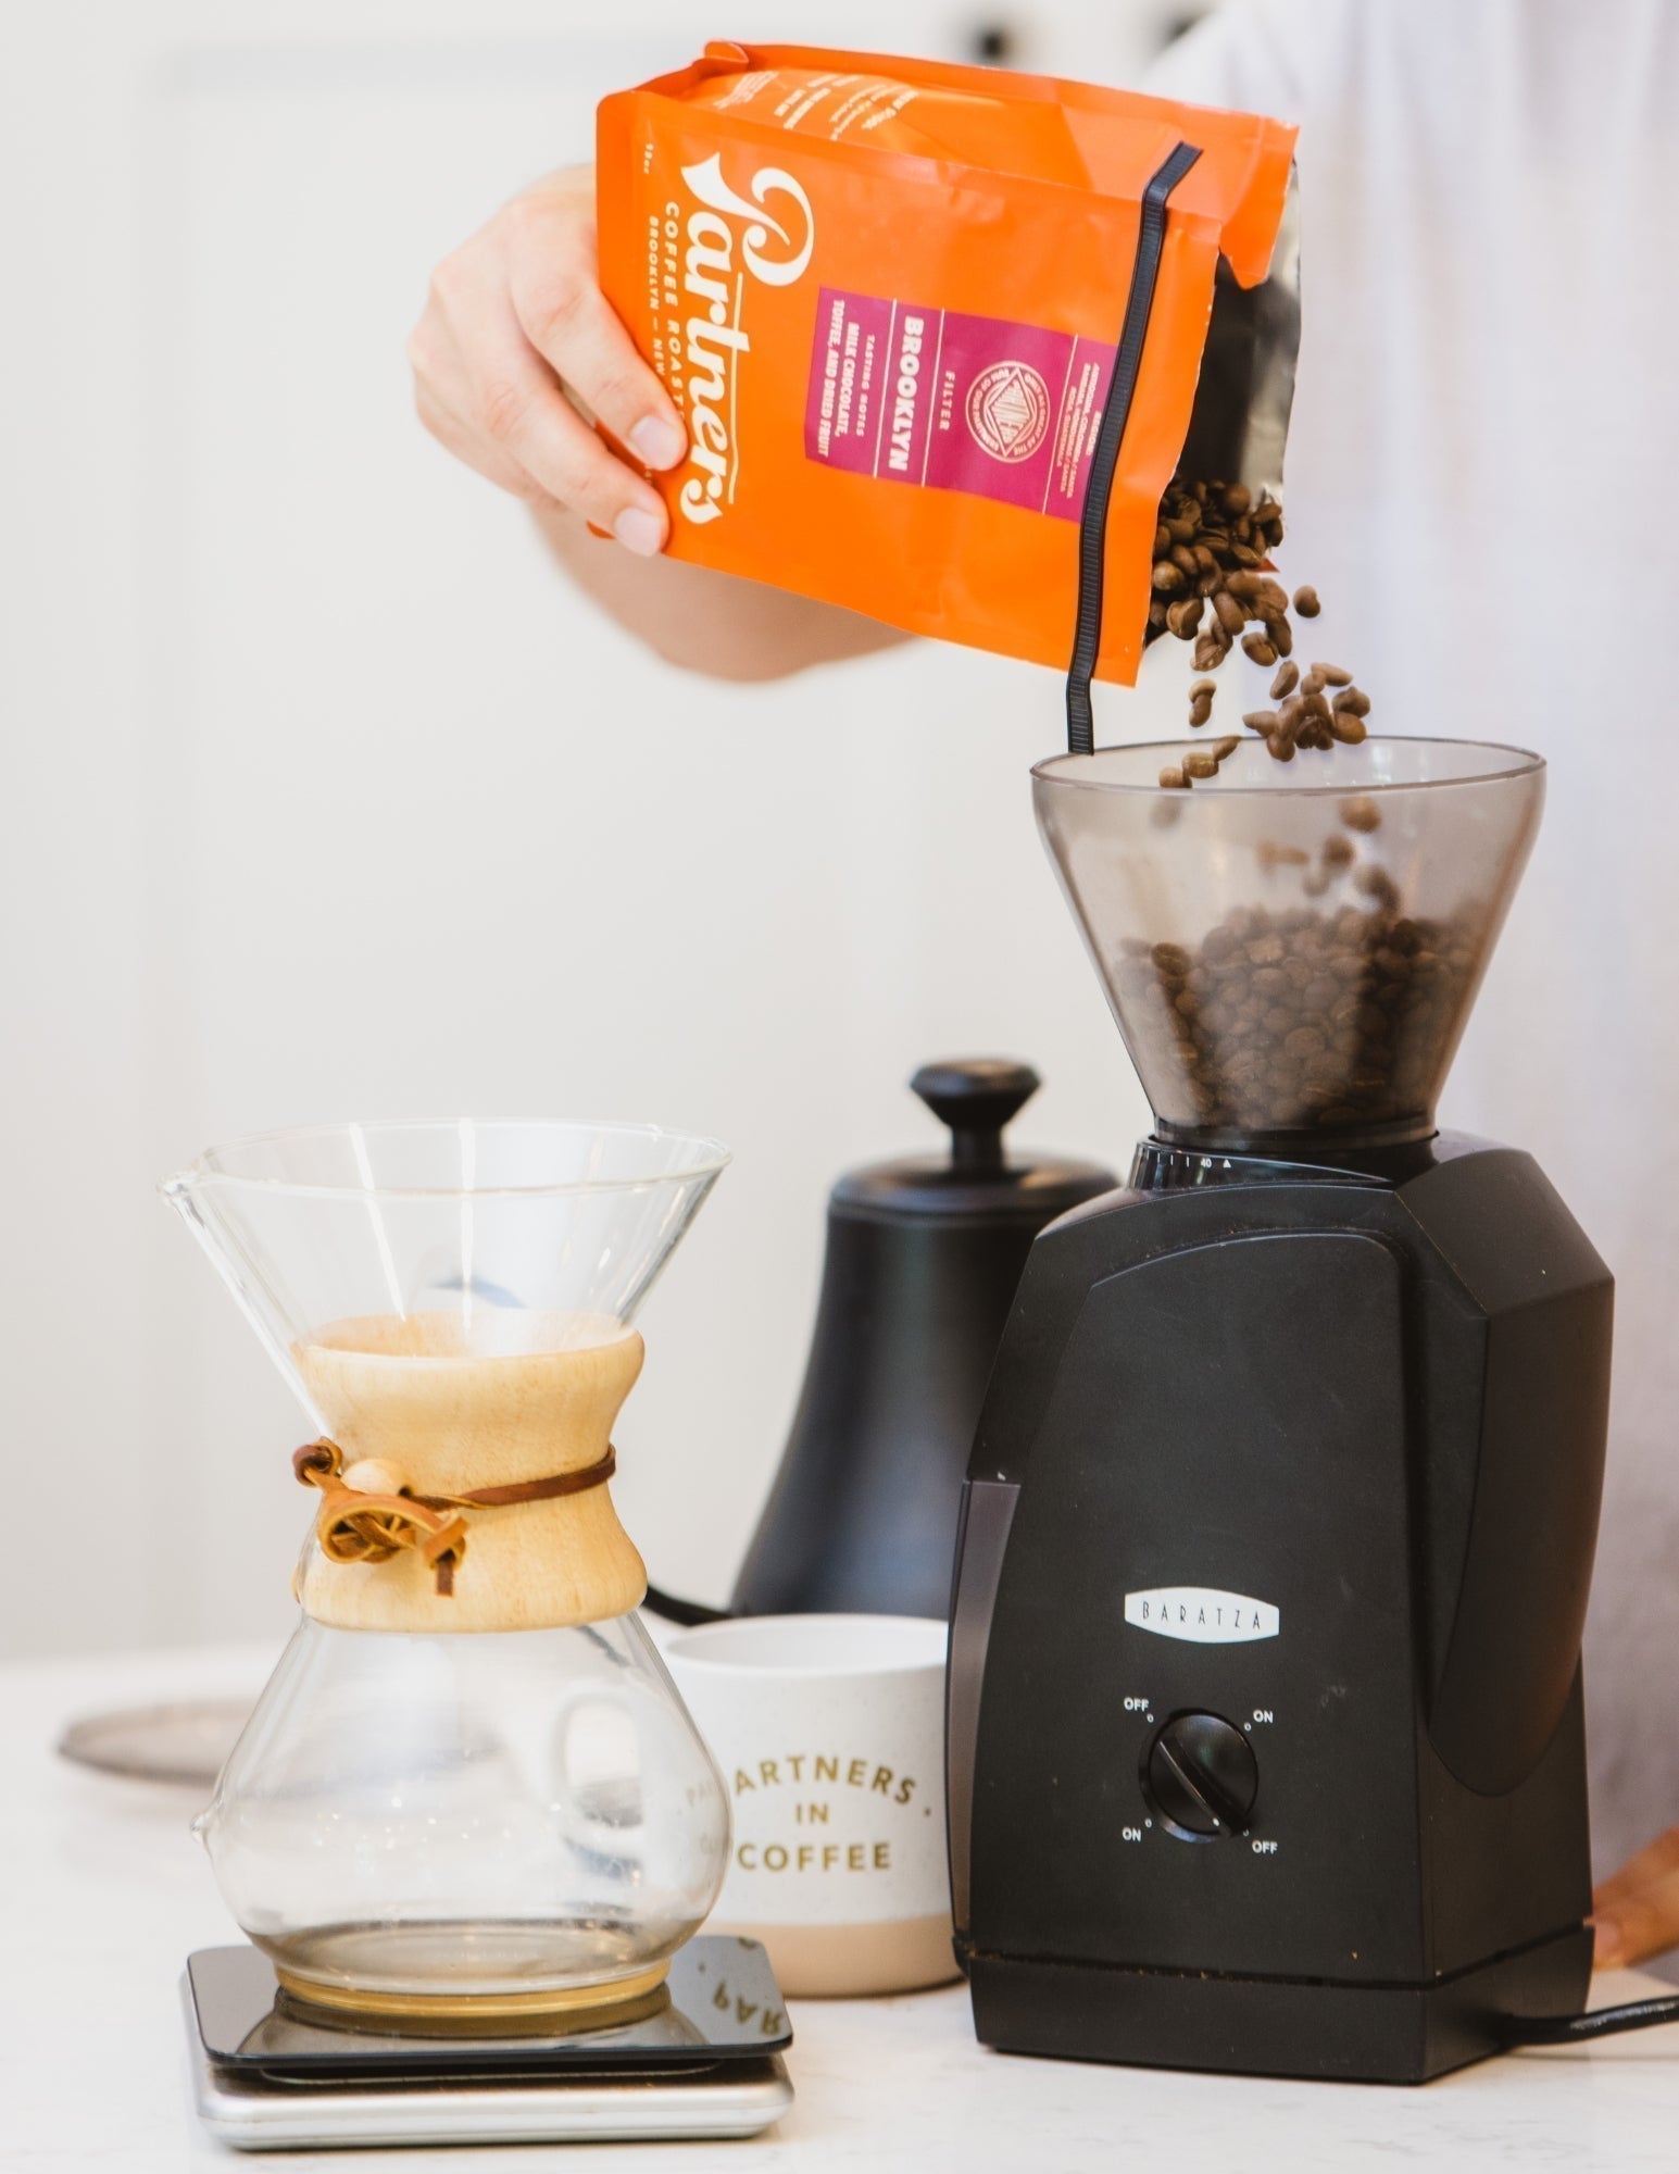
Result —
[[1403, 1300], [1355, 1230], [1090, 1289], [990, 1626], [977, 1950], [1425, 1976]]

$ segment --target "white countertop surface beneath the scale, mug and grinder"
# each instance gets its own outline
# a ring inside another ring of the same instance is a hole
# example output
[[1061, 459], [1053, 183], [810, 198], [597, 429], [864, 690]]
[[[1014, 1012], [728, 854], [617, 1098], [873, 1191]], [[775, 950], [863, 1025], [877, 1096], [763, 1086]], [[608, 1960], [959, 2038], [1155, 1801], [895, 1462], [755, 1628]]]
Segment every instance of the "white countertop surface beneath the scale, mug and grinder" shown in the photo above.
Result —
[[[568, 2174], [1431, 2174], [1679, 2163], [1679, 2026], [1599, 2048], [1512, 2054], [1425, 2089], [1268, 2083], [1022, 2061], [974, 2044], [961, 1987], [794, 2002], [794, 2111], [750, 2144], [524, 2146], [515, 2152], [237, 2154], [189, 2100], [176, 1983], [189, 1948], [237, 1939], [187, 1833], [191, 1791], [57, 1759], [80, 1713], [261, 1685], [272, 1654], [122, 1654], [0, 1667], [0, 2165], [7, 2174], [183, 2167], [437, 2167], [511, 2174], [563, 2150]], [[1599, 1981], [1596, 2000], [1662, 1989]]]

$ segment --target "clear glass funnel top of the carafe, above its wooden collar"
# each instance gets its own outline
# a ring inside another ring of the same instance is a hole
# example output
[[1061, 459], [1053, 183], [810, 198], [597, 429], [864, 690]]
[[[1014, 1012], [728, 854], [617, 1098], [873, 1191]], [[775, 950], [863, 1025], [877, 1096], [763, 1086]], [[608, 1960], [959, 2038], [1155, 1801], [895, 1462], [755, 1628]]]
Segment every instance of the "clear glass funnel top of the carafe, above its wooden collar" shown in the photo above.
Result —
[[339, 1124], [211, 1148], [163, 1191], [313, 1409], [304, 1344], [459, 1359], [620, 1337], [726, 1161], [650, 1124]]

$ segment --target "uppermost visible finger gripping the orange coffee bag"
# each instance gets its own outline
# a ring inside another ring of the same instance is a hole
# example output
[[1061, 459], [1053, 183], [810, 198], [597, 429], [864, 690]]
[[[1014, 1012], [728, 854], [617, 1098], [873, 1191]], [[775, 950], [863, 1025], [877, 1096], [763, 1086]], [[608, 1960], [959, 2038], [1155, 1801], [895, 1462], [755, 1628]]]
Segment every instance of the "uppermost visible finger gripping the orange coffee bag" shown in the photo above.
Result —
[[507, 207], [507, 289], [524, 337], [648, 467], [674, 467], [687, 433], [600, 293], [594, 217], [574, 189]]

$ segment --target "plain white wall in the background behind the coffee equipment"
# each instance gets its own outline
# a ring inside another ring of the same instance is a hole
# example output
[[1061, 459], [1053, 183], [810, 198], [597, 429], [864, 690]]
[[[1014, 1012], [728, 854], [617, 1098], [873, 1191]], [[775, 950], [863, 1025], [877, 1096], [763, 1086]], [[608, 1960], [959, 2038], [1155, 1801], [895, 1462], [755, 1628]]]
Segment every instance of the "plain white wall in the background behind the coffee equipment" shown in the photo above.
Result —
[[[1170, 13], [1170, 11], [1166, 11]], [[837, 1170], [1146, 1111], [1031, 824], [1050, 674], [920, 648], [711, 687], [574, 600], [409, 413], [431, 263], [705, 37], [963, 52], [950, 4], [59, 0], [0, 22], [0, 1650], [278, 1633], [300, 1415], [157, 1178], [341, 1115], [737, 1148], [644, 1315], [620, 1502], [720, 1598]], [[1164, 11], [1033, 7], [1124, 78]], [[609, 26], [609, 28], [607, 28]], [[609, 548], [609, 546], [602, 546]], [[1174, 720], [1157, 689], [1109, 737]]]

